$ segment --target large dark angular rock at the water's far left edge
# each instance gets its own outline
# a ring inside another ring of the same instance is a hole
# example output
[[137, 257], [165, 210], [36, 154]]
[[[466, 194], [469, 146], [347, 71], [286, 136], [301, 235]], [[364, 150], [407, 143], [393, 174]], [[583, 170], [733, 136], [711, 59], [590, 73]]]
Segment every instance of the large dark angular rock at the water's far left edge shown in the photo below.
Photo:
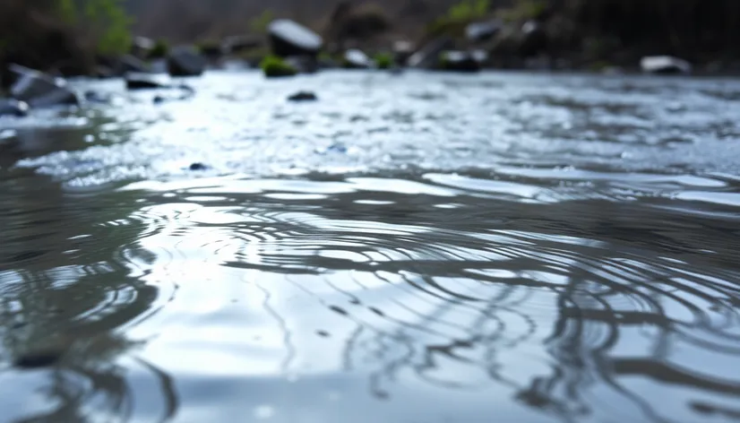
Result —
[[58, 105], [79, 105], [77, 94], [66, 86], [63, 78], [21, 65], [10, 65], [11, 72], [17, 75], [10, 89], [14, 99], [25, 101], [32, 108]]

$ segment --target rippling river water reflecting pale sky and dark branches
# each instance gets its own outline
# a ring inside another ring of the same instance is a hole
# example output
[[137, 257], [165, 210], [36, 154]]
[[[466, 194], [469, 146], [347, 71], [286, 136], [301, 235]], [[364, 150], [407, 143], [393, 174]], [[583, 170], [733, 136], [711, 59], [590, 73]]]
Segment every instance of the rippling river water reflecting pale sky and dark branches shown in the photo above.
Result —
[[740, 81], [74, 83], [0, 118], [0, 421], [740, 420]]

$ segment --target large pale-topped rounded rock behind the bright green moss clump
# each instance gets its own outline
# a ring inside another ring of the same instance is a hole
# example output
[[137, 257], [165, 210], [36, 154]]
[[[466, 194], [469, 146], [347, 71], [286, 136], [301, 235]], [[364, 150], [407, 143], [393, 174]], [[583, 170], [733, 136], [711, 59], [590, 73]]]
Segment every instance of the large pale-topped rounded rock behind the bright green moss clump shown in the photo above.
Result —
[[316, 56], [323, 45], [319, 34], [288, 19], [271, 22], [268, 31], [272, 52], [278, 56]]

